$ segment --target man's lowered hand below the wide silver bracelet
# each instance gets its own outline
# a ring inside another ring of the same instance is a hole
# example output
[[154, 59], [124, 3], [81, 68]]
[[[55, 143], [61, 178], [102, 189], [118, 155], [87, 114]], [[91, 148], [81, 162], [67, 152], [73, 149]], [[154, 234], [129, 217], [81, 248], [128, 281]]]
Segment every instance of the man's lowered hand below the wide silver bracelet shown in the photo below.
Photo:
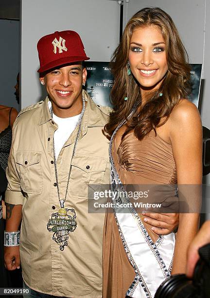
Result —
[[4, 265], [10, 271], [20, 268], [19, 246], [4, 246]]

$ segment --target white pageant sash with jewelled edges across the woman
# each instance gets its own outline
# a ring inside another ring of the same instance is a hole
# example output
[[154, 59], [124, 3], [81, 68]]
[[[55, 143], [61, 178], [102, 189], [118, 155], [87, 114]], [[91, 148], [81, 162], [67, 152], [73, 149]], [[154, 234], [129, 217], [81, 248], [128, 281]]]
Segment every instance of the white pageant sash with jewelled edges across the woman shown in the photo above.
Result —
[[[125, 123], [123, 121], [114, 131], [109, 145], [110, 183], [114, 205], [115, 219], [118, 225], [125, 253], [132, 264], [136, 277], [126, 295], [132, 298], [153, 298], [162, 281], [170, 277], [172, 268], [175, 235], [171, 233], [160, 236], [153, 243], [136, 210], [131, 206], [129, 198], [115, 169], [111, 150], [112, 141], [117, 130]], [[117, 204], [118, 203], [118, 204]], [[124, 205], [120, 206], [119, 205]]]

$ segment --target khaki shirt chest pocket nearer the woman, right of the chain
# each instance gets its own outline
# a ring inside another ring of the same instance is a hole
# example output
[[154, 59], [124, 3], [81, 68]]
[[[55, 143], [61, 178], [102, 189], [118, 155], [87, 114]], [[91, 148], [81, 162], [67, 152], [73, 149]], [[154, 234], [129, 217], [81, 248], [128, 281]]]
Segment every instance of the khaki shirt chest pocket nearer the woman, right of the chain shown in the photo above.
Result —
[[[88, 190], [98, 191], [104, 182], [107, 159], [88, 155], [75, 155], [72, 160], [70, 196], [91, 199]], [[89, 192], [91, 193], [91, 191]]]

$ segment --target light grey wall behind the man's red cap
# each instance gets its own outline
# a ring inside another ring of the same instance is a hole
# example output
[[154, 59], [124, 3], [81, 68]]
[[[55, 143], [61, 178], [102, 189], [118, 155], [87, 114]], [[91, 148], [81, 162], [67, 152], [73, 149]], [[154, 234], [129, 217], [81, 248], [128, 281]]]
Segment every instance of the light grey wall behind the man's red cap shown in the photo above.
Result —
[[22, 0], [21, 108], [44, 96], [36, 73], [36, 43], [61, 30], [77, 31], [92, 61], [109, 61], [119, 42], [120, 6], [108, 0]]

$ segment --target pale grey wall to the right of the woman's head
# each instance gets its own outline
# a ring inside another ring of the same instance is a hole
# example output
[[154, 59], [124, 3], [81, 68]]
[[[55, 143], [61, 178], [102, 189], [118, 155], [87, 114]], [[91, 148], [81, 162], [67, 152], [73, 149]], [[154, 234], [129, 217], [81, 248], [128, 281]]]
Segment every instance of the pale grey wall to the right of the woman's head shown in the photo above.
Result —
[[[190, 62], [203, 63], [201, 118], [203, 126], [210, 129], [210, 1], [129, 0], [123, 8], [123, 28], [134, 13], [148, 6], [160, 7], [172, 17], [189, 54]], [[204, 177], [203, 183], [210, 185], [210, 174]], [[210, 209], [210, 203], [207, 204]], [[210, 214], [207, 218], [210, 219]]]

